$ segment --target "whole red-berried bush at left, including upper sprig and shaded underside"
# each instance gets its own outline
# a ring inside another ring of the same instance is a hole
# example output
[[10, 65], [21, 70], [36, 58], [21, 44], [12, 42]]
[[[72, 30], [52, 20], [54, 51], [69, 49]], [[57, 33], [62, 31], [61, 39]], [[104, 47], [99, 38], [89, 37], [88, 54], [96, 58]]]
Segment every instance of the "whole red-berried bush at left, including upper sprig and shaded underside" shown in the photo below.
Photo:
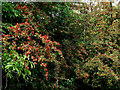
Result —
[[[19, 9], [26, 11], [27, 6], [21, 6]], [[25, 14], [23, 14], [24, 17]], [[28, 17], [26, 15], [26, 21], [30, 19], [29, 15]], [[34, 26], [35, 22], [32, 22], [32, 19], [28, 22], [7, 27], [3, 33], [3, 69], [6, 72], [6, 77], [19, 76], [25, 80], [34, 82], [35, 80], [40, 80], [40, 82], [43, 80], [42, 82], [44, 82], [50, 76], [55, 80], [53, 85], [51, 86], [49, 83], [48, 87], [55, 87], [61, 77], [59, 75], [60, 68], [64, 67], [62, 52], [56, 46], [60, 44], [48, 39], [48, 35], [39, 34], [40, 30], [38, 31], [38, 26]], [[46, 85], [44, 86], [43, 83], [39, 88], [46, 88]]]

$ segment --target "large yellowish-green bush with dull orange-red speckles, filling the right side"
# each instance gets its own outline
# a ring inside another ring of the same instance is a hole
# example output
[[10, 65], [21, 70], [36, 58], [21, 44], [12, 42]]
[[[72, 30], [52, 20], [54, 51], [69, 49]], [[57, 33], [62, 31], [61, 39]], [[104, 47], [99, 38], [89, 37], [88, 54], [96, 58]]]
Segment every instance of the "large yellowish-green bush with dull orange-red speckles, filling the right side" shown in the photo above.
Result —
[[78, 76], [83, 76], [83, 81], [92, 87], [115, 89], [120, 86], [120, 14], [118, 7], [111, 4], [98, 3], [91, 12], [88, 11], [88, 6], [85, 6], [87, 17], [83, 15], [83, 19], [88, 20], [89, 25], [84, 32], [86, 42], [80, 44], [81, 49], [78, 50], [82, 67], [76, 71]]

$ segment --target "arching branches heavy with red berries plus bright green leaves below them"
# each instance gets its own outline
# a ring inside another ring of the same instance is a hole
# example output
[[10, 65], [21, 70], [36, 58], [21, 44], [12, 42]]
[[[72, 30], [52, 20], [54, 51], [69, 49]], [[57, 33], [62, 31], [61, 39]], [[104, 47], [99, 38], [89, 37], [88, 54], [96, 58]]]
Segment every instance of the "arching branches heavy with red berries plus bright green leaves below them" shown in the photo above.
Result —
[[[16, 24], [8, 29], [9, 34], [3, 33], [2, 39], [3, 52], [7, 53], [4, 54], [3, 65], [8, 74], [12, 76], [10, 71], [17, 71], [19, 76], [29, 79], [30, 76], [34, 76], [32, 71], [39, 66], [43, 68], [42, 71], [45, 72], [43, 74], [48, 80], [50, 70], [47, 68], [47, 63], [55, 62], [55, 78], [57, 79], [58, 70], [64, 60], [62, 52], [56, 47], [60, 43], [51, 41], [48, 35], [34, 33], [33, 27], [28, 22]], [[60, 55], [61, 61], [57, 61], [56, 52]]]

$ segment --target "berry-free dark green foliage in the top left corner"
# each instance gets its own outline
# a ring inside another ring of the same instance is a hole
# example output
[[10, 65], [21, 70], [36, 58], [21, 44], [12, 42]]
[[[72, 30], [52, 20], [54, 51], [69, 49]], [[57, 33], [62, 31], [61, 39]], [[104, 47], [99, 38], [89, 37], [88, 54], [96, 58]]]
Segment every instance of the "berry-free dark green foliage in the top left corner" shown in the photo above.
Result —
[[21, 23], [23, 17], [21, 16], [21, 13], [19, 10], [14, 8], [16, 6], [16, 3], [8, 3], [3, 2], [2, 3], [2, 19], [3, 23], [12, 23], [15, 25], [16, 23]]

